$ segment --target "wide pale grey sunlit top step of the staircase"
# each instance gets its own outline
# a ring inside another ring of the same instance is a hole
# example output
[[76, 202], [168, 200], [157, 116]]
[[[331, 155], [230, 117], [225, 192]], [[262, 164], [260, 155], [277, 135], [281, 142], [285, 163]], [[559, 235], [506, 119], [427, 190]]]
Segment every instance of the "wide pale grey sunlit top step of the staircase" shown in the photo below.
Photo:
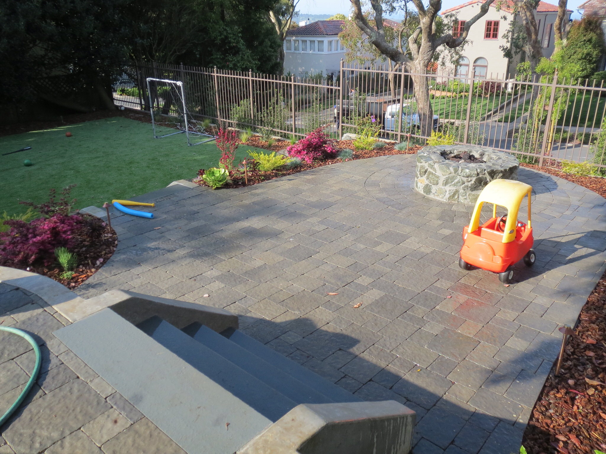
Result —
[[[173, 349], [183, 349], [185, 342], [202, 347], [166, 324], [172, 328], [171, 335], [181, 339], [168, 343]], [[247, 403], [248, 396], [225, 389], [224, 384], [233, 387], [233, 378], [212, 370], [208, 377], [110, 308], [65, 326], [55, 335], [188, 454], [233, 454], [284, 411], [275, 409], [272, 401], [279, 398], [275, 390], [254, 377], [250, 380], [259, 387], [238, 386], [251, 396], [260, 390], [268, 403], [259, 404], [266, 409], [255, 409]], [[210, 350], [209, 354], [216, 355]], [[197, 363], [205, 360], [193, 359]]]

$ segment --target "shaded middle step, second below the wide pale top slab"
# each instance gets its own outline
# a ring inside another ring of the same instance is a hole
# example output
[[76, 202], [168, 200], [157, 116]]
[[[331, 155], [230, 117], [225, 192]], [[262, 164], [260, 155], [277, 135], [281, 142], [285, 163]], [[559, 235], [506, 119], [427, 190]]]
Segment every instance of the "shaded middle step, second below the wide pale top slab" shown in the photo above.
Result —
[[321, 392], [288, 375], [279, 367], [251, 354], [248, 350], [200, 323], [192, 323], [182, 328], [182, 331], [297, 404], [333, 402]]

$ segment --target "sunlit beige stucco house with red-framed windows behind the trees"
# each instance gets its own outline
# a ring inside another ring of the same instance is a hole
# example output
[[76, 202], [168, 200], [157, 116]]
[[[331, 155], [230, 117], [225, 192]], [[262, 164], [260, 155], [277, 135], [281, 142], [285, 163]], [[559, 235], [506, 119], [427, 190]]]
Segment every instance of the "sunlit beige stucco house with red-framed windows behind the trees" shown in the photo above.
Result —
[[[458, 22], [454, 24], [453, 33], [461, 33], [465, 21], [478, 13], [483, 2], [470, 1], [444, 10], [441, 14], [455, 15]], [[456, 67], [440, 67], [438, 72], [444, 71], [461, 77], [470, 77], [473, 74], [477, 79], [509, 79], [510, 75], [513, 76], [516, 65], [524, 61], [524, 54], [520, 53], [513, 59], [507, 59], [503, 56], [501, 46], [507, 45], [506, 37], [511, 21], [519, 21], [519, 18], [513, 12], [511, 2], [493, 2], [490, 6], [486, 15], [471, 27], [459, 64]], [[568, 18], [570, 13], [572, 10], [568, 10]], [[534, 13], [545, 57], [550, 57], [554, 50], [553, 24], [557, 15], [558, 5], [542, 1]]]

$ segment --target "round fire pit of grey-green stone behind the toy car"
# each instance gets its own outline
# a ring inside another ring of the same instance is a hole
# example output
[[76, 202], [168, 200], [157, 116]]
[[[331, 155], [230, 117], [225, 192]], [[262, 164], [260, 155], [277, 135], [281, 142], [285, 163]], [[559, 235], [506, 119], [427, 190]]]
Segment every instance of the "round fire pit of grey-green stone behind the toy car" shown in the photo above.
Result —
[[485, 146], [425, 146], [417, 152], [415, 189], [433, 199], [475, 203], [491, 180], [517, 180], [519, 166], [513, 154]]

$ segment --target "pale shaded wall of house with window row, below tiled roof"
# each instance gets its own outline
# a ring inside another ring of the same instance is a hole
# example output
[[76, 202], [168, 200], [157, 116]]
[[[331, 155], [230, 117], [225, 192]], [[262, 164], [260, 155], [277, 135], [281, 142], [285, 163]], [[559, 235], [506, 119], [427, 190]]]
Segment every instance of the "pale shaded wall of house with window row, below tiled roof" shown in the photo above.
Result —
[[[302, 71], [310, 74], [322, 71], [325, 76], [327, 70], [339, 70], [339, 62], [345, 56], [345, 50], [341, 49], [341, 42], [339, 42], [338, 51], [328, 52], [328, 41], [335, 41], [338, 36], [288, 36], [287, 39], [298, 40], [299, 50], [292, 50], [293, 45], [291, 45], [291, 50], [287, 50], [287, 44], [284, 42], [284, 74], [290, 71], [298, 77]], [[301, 41], [316, 41], [316, 51], [311, 52], [309, 46], [307, 51], [302, 51]], [[323, 52], [318, 52], [318, 41], [324, 42]]]

